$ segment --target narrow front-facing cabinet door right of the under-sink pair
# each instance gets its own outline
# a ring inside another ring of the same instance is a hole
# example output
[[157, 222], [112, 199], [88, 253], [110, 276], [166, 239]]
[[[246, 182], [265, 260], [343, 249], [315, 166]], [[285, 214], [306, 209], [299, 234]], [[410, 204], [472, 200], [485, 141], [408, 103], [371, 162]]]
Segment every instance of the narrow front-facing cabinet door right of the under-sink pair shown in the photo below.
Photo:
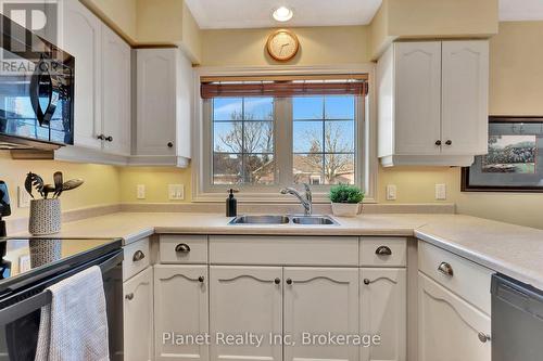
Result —
[[361, 270], [361, 333], [381, 338], [362, 348], [362, 361], [405, 361], [406, 282], [405, 269]]

